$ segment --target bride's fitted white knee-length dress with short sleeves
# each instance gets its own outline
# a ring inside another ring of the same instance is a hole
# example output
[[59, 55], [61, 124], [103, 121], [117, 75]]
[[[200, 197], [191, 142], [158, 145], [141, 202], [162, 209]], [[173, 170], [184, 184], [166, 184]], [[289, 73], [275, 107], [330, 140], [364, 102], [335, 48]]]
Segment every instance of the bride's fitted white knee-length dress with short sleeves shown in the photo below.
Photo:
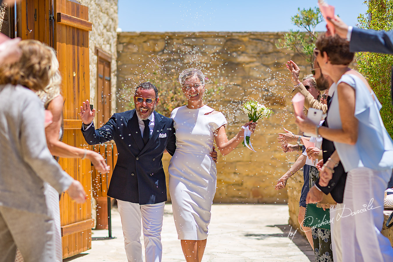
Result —
[[217, 185], [216, 164], [210, 157], [214, 132], [226, 126], [224, 115], [209, 114], [202, 106], [175, 108], [171, 118], [176, 132], [176, 151], [169, 162], [169, 192], [178, 239], [204, 240], [208, 236], [211, 204]]

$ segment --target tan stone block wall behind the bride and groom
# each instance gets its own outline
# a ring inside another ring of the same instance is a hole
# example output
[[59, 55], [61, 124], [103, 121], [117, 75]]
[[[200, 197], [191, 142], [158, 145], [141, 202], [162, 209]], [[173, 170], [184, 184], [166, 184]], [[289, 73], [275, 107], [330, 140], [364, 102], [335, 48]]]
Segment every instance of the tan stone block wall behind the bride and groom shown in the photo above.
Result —
[[[301, 67], [301, 76], [309, 71], [310, 65], [292, 51], [275, 47], [282, 35], [261, 32], [118, 33], [118, 112], [133, 108], [132, 95], [139, 82], [151, 80], [158, 89], [168, 88], [165, 83], [169, 82], [173, 86], [168, 92], [181, 92], [176, 87], [176, 79], [184, 68], [191, 66], [204, 71], [208, 79], [206, 88], [223, 87], [207, 98], [207, 104], [227, 117], [229, 139], [248, 121], [239, 110], [242, 102], [256, 99], [271, 106], [274, 115], [259, 121], [252, 135], [257, 152], [239, 145], [228, 156], [219, 154], [214, 202], [286, 203], [287, 191], [275, 191], [274, 185], [288, 170], [288, 162], [293, 162], [296, 156], [283, 154], [277, 147], [276, 137], [278, 132], [283, 132], [283, 127], [294, 132], [297, 129], [289, 95], [293, 87], [284, 64], [289, 59], [296, 61]], [[169, 159], [169, 156], [163, 158], [164, 170], [167, 170]], [[288, 192], [297, 194], [292, 191]], [[291, 196], [290, 200], [296, 207], [296, 197]], [[296, 220], [292, 216], [291, 219], [297, 222], [298, 211], [290, 212], [296, 213]]]

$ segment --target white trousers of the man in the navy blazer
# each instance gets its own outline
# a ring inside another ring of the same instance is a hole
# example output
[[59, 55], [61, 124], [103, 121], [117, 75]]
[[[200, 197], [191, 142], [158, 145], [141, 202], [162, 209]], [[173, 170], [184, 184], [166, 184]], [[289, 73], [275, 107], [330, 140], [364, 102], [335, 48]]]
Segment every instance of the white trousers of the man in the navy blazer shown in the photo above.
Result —
[[164, 206], [165, 202], [140, 205], [118, 200], [125, 253], [129, 262], [143, 261], [140, 242], [142, 227], [146, 262], [161, 262], [161, 229]]

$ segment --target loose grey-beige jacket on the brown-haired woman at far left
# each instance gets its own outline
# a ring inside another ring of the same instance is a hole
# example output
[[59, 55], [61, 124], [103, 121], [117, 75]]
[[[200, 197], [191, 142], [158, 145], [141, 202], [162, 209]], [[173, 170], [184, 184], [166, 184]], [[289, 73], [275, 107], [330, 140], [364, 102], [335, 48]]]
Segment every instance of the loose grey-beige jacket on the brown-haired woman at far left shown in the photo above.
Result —
[[46, 145], [44, 108], [23, 86], [0, 86], [0, 205], [47, 214], [44, 181], [59, 193], [73, 179]]

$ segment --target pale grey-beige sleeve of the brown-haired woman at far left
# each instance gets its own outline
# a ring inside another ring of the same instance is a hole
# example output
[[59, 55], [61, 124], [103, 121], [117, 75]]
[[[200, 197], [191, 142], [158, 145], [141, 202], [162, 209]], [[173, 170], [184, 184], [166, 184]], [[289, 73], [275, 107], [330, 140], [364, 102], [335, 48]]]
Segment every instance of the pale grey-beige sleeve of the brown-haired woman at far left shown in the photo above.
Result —
[[[37, 96], [36, 96], [37, 97]], [[61, 193], [70, 187], [73, 178], [64, 172], [52, 157], [44, 130], [44, 108], [40, 100], [26, 100], [22, 110], [20, 145], [22, 158], [42, 180]]]

